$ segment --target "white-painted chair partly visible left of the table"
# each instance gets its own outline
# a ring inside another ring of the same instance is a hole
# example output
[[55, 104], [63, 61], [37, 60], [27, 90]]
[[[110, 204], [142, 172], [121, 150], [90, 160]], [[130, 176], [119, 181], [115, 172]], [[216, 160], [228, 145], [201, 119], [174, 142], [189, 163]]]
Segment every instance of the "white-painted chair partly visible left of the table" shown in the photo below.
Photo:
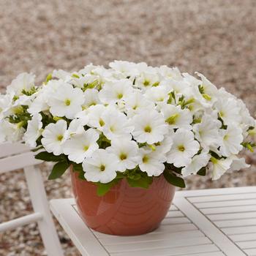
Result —
[[23, 169], [29, 188], [34, 213], [0, 223], [0, 233], [15, 227], [37, 222], [43, 244], [49, 256], [62, 256], [63, 252], [56, 228], [50, 214], [45, 187], [38, 165], [42, 161], [34, 159], [34, 153], [20, 143], [0, 144], [0, 174]]

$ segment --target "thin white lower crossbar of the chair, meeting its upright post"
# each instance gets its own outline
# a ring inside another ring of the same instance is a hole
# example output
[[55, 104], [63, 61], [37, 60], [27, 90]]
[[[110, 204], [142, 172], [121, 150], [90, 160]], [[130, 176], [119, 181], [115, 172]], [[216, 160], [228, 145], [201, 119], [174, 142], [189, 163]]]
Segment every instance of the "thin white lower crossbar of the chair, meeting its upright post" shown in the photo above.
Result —
[[0, 224], [0, 232], [4, 232], [6, 230], [27, 225], [29, 223], [37, 222], [39, 221], [39, 219], [42, 219], [42, 214], [37, 212], [37, 213], [29, 214], [17, 219], [12, 219], [9, 222], [3, 222]]

